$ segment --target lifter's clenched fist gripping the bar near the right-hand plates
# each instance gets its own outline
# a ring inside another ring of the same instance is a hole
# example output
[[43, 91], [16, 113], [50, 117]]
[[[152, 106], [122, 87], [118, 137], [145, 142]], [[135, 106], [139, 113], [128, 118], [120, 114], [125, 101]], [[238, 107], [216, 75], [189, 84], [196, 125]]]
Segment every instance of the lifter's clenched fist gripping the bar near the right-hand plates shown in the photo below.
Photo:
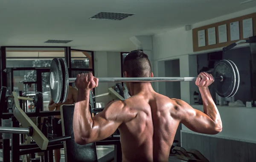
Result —
[[206, 72], [200, 73], [196, 78], [195, 84], [198, 87], [208, 87], [214, 82], [214, 78], [212, 74], [208, 74]]

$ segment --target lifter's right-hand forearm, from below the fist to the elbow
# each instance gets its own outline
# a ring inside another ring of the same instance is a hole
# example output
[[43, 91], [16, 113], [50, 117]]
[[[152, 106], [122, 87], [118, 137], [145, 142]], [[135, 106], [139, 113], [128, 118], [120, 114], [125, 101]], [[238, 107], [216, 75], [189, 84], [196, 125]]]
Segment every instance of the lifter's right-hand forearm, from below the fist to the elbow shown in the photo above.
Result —
[[221, 117], [215, 105], [209, 88], [199, 88], [204, 104], [204, 113], [207, 114], [215, 123], [221, 123]]

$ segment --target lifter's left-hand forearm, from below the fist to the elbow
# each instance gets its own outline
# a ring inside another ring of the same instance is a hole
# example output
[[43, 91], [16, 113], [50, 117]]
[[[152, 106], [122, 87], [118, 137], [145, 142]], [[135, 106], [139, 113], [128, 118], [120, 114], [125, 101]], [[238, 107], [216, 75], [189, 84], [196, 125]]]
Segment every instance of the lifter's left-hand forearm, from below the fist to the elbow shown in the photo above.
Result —
[[[89, 111], [90, 91], [78, 90], [73, 115], [73, 131], [80, 140], [90, 137], [93, 121]], [[79, 141], [79, 140], [78, 140]]]

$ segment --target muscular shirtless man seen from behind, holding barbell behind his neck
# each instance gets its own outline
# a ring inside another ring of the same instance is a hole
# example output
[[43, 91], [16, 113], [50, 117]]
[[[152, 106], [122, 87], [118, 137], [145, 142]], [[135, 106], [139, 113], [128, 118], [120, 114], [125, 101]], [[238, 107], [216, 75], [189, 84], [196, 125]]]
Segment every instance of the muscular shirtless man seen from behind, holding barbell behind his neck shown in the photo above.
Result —
[[[125, 77], [153, 77], [148, 56], [139, 50], [125, 57], [123, 73]], [[208, 73], [200, 73], [195, 81], [204, 101], [204, 112], [182, 100], [158, 94], [150, 82], [126, 82], [131, 97], [109, 103], [91, 118], [89, 91], [98, 86], [98, 79], [91, 73], [77, 75], [75, 142], [85, 145], [103, 140], [118, 128], [123, 162], [168, 162], [179, 123], [203, 134], [221, 132], [221, 117], [208, 89], [212, 83], [212, 75]]]

